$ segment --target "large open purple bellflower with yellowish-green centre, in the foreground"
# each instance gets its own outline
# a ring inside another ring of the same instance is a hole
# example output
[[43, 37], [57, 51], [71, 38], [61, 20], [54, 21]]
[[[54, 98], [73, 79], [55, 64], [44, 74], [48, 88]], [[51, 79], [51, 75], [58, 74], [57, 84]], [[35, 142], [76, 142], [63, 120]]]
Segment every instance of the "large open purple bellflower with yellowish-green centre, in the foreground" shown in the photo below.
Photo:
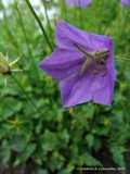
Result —
[[113, 41], [58, 22], [56, 48], [40, 67], [60, 83], [63, 105], [110, 104], [115, 85]]

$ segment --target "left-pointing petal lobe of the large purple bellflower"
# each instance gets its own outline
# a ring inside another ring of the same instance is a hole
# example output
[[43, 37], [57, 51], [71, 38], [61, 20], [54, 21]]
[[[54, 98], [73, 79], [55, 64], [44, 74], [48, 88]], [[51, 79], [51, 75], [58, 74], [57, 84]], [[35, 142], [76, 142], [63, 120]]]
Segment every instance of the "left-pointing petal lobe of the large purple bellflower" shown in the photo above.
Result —
[[82, 55], [78, 52], [55, 49], [50, 57], [41, 61], [40, 67], [53, 78], [62, 79], [78, 72], [82, 61]]

